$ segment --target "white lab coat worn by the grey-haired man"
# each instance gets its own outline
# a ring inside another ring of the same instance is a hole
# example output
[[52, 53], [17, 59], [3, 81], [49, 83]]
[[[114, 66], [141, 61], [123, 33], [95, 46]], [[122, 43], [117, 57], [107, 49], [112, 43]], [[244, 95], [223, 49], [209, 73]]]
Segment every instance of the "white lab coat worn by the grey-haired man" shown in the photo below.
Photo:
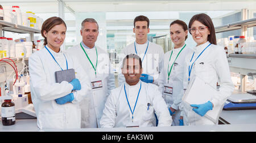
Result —
[[[106, 99], [110, 94], [110, 90], [115, 88], [115, 79], [114, 74], [111, 72], [109, 54], [98, 46], [96, 46], [96, 48], [98, 53], [98, 63], [96, 68], [97, 78], [102, 80], [103, 89], [90, 90], [88, 93], [89, 95], [80, 102], [80, 108], [82, 111], [81, 128], [100, 127], [100, 119], [104, 110]], [[84, 47], [84, 50], [95, 67], [97, 59], [95, 47], [92, 49], [86, 49]], [[77, 58], [77, 60], [79, 60], [82, 68], [85, 71], [84, 75], [88, 75], [89, 80], [93, 81], [96, 78], [95, 71], [80, 44], [68, 49], [67, 52], [71, 54], [73, 58]]]

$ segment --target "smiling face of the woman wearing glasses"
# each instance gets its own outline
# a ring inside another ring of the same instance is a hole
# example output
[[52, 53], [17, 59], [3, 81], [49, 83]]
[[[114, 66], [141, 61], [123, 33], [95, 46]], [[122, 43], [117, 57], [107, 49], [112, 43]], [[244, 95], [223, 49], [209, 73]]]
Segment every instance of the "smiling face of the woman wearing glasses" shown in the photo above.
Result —
[[197, 46], [205, 44], [208, 41], [208, 35], [210, 34], [209, 29], [204, 24], [195, 20], [191, 28], [196, 28], [195, 32], [191, 32], [193, 40], [197, 43]]

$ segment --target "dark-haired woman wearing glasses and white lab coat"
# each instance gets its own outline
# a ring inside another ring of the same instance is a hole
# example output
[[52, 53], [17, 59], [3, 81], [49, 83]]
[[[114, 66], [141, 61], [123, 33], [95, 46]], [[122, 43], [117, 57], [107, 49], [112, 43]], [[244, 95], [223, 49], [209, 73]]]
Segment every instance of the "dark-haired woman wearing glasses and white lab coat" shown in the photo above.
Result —
[[[188, 72], [188, 85], [194, 77], [199, 77], [217, 90], [216, 83], [220, 84], [218, 94], [212, 94], [211, 99], [200, 105], [188, 105], [184, 103], [184, 125], [217, 124], [205, 117], [209, 110], [222, 105], [234, 89], [230, 77], [228, 60], [224, 47], [216, 45], [216, 35], [213, 22], [206, 14], [194, 15], [189, 21], [189, 33], [196, 42], [193, 53], [186, 57], [185, 71]], [[191, 82], [192, 84], [192, 82]], [[200, 99], [199, 99], [200, 100]]]

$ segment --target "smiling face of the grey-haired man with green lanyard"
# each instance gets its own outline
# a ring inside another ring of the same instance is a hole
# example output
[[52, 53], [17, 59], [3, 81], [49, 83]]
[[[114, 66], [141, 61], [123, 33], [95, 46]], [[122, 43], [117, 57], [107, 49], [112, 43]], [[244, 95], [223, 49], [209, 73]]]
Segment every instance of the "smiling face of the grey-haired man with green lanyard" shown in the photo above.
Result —
[[98, 27], [96, 23], [85, 22], [84, 28], [80, 31], [82, 42], [90, 48], [94, 47], [98, 37]]

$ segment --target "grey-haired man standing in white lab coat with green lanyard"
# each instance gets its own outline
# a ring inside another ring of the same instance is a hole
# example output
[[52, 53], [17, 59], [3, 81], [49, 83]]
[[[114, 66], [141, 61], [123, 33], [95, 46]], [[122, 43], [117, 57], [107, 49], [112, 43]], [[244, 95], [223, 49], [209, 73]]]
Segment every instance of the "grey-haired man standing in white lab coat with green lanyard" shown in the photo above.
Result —
[[90, 78], [92, 90], [88, 98], [80, 102], [81, 128], [98, 128], [105, 101], [114, 89], [114, 74], [110, 70], [110, 60], [105, 50], [95, 45], [98, 37], [98, 23], [88, 18], [81, 23], [82, 41], [68, 49], [68, 53], [79, 59]]

